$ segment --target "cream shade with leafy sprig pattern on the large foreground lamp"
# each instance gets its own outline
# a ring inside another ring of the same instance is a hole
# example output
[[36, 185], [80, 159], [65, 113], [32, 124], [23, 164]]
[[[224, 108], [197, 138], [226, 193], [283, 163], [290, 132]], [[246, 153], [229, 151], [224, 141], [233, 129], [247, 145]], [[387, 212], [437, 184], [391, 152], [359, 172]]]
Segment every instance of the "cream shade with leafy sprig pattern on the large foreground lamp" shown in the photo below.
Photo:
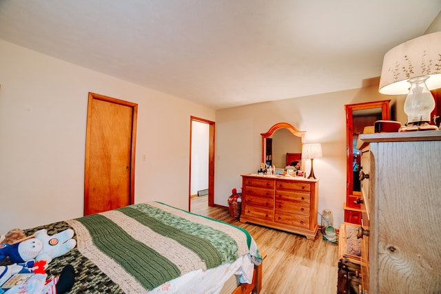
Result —
[[429, 90], [441, 87], [441, 32], [411, 39], [384, 54], [379, 92], [408, 94], [407, 80], [418, 76], [429, 76]]

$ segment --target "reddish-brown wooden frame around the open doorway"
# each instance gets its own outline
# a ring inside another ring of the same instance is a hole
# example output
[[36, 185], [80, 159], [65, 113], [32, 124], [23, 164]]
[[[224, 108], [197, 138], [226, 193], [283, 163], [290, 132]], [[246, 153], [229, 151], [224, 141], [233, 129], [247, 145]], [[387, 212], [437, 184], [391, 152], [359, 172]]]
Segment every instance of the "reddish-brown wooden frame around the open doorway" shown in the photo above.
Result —
[[188, 178], [188, 211], [191, 211], [191, 188], [192, 188], [192, 122], [207, 123], [209, 125], [208, 135], [208, 206], [214, 206], [214, 129], [215, 123], [212, 120], [190, 116], [190, 142], [189, 142], [189, 178]]

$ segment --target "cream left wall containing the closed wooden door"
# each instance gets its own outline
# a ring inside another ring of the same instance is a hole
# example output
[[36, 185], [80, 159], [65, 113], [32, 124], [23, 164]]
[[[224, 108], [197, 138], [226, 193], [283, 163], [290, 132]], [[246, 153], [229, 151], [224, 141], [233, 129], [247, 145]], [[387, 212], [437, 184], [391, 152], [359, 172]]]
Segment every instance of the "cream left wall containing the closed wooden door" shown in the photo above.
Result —
[[88, 92], [139, 105], [135, 202], [188, 209], [190, 116], [214, 110], [2, 40], [0, 85], [0, 233], [83, 216]]

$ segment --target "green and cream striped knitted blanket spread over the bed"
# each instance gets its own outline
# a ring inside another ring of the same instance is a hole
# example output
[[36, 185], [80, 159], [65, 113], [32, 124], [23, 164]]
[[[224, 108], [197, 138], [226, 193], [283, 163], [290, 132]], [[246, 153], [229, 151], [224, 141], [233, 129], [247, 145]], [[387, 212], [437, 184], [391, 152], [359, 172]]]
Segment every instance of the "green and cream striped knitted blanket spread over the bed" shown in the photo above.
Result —
[[232, 263], [241, 255], [250, 254], [256, 264], [261, 262], [256, 243], [245, 229], [160, 202], [66, 223], [75, 231], [74, 250], [125, 293], [145, 293], [185, 273]]

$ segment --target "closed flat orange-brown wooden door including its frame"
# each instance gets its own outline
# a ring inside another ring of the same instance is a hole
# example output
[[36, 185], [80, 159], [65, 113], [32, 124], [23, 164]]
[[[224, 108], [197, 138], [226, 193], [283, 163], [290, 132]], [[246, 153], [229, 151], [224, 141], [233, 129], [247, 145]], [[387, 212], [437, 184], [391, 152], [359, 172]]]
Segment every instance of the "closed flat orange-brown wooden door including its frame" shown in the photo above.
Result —
[[134, 203], [137, 105], [89, 93], [84, 215]]

